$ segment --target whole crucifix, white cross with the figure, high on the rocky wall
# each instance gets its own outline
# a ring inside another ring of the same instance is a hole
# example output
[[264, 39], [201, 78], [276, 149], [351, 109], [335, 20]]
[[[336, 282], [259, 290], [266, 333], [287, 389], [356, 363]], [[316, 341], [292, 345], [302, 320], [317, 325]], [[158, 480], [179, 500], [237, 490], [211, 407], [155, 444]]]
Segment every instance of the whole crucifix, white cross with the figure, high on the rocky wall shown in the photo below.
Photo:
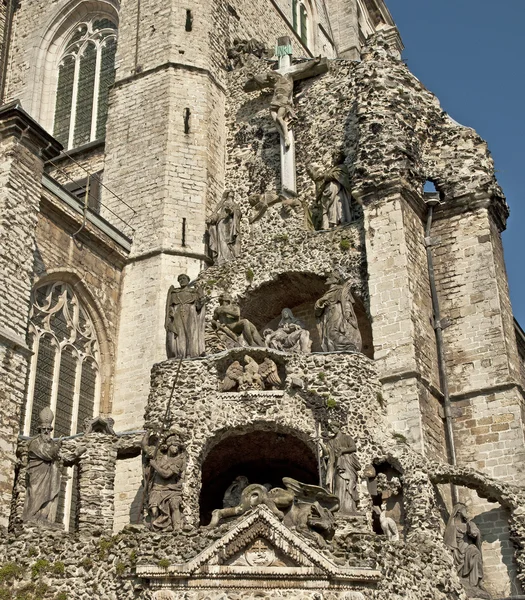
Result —
[[270, 102], [270, 115], [275, 121], [281, 138], [281, 193], [283, 196], [297, 194], [295, 178], [295, 139], [290, 127], [293, 119], [294, 82], [328, 72], [326, 58], [314, 58], [299, 65], [292, 65], [292, 42], [288, 36], [277, 40], [277, 58], [279, 68], [261, 75], [250, 75], [244, 84], [245, 92], [254, 92], [264, 88], [272, 88], [273, 98]]

